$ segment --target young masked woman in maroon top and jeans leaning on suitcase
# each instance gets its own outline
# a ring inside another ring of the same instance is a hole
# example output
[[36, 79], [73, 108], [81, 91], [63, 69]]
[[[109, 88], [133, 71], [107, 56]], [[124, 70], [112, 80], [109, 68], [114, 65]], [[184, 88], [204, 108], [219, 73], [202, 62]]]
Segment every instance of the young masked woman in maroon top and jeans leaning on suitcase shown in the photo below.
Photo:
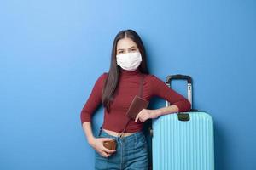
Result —
[[[140, 83], [142, 76], [143, 83]], [[143, 109], [135, 120], [129, 122], [124, 135], [119, 138], [125, 122], [129, 120], [125, 113], [140, 87], [143, 88], [143, 99], [149, 101], [158, 96], [172, 105], [155, 110]], [[100, 104], [104, 106], [104, 121], [101, 135], [95, 137], [91, 131], [91, 116]], [[113, 41], [110, 69], [98, 77], [80, 114], [88, 143], [95, 149], [95, 168], [148, 170], [148, 146], [142, 133], [143, 122], [189, 109], [187, 99], [148, 73], [145, 49], [137, 32], [119, 31]], [[116, 150], [103, 146], [104, 141], [112, 139], [117, 140]]]

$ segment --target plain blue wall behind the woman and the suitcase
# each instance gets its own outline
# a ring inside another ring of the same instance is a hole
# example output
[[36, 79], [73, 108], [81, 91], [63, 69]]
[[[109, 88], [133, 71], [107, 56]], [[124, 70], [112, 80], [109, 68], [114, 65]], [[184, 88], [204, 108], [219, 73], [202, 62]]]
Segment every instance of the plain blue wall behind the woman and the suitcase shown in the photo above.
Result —
[[[256, 169], [255, 1], [2, 0], [1, 170], [93, 169], [80, 111], [128, 28], [151, 74], [193, 77], [194, 106], [215, 122], [216, 169]], [[183, 81], [173, 85], [186, 95]], [[94, 131], [101, 123], [102, 108]]]

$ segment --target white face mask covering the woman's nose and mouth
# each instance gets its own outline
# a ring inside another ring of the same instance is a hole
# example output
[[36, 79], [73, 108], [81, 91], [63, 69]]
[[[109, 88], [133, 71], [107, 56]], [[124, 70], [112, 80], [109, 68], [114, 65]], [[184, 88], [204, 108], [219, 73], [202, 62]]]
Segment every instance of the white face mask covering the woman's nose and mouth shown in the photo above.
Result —
[[135, 71], [142, 62], [142, 55], [140, 52], [117, 54], [116, 62], [126, 71]]

